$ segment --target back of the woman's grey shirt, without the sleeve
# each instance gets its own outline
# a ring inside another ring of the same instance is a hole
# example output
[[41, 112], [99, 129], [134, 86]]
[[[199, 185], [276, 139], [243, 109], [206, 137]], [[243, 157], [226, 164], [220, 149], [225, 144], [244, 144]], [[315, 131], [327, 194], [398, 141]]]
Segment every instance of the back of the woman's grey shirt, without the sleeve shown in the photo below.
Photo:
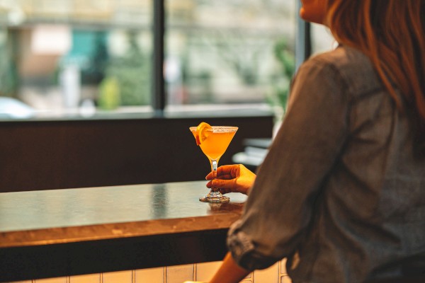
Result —
[[346, 139], [319, 191], [300, 263], [288, 271], [295, 282], [400, 276], [409, 257], [425, 256], [425, 161], [414, 155], [412, 127], [361, 52], [339, 47], [303, 68], [317, 66], [344, 84]]

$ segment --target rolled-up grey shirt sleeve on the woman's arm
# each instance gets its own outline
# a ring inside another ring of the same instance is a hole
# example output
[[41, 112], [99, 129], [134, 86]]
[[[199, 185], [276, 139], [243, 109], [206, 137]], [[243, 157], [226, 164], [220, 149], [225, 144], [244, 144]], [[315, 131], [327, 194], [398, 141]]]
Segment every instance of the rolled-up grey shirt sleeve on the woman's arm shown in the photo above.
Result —
[[229, 229], [227, 246], [238, 265], [263, 269], [297, 250], [347, 137], [347, 92], [329, 62], [310, 59], [300, 67], [244, 214]]

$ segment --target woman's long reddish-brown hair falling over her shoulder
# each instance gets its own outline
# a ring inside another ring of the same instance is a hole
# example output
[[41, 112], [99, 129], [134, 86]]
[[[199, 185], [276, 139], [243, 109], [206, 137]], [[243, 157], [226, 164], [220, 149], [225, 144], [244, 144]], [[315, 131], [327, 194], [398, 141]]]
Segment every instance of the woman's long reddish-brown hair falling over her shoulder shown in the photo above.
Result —
[[425, 1], [328, 0], [327, 11], [336, 40], [370, 58], [397, 107], [409, 115], [425, 154]]

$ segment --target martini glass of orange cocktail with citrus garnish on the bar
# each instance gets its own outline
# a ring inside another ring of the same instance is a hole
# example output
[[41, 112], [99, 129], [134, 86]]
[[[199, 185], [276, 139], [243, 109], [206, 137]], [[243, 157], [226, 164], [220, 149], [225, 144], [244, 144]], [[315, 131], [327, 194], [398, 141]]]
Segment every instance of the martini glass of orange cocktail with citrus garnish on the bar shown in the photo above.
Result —
[[[197, 127], [190, 127], [193, 137], [198, 137]], [[200, 149], [208, 157], [211, 164], [212, 178], [217, 178], [217, 166], [220, 157], [225, 154], [227, 147], [236, 134], [238, 127], [211, 126], [204, 129], [204, 139], [199, 144]], [[218, 191], [217, 187], [212, 187], [208, 195], [200, 197], [201, 202], [229, 202], [229, 197], [225, 197]]]

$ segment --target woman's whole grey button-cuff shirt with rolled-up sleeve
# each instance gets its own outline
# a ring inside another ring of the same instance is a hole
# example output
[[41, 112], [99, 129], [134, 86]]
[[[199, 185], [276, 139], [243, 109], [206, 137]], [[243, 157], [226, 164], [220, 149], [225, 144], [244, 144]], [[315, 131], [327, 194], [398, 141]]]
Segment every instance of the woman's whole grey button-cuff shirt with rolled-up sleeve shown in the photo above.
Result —
[[425, 253], [425, 162], [367, 57], [340, 46], [300, 67], [288, 112], [257, 172], [233, 258], [262, 269], [288, 258], [293, 282], [402, 274]]

